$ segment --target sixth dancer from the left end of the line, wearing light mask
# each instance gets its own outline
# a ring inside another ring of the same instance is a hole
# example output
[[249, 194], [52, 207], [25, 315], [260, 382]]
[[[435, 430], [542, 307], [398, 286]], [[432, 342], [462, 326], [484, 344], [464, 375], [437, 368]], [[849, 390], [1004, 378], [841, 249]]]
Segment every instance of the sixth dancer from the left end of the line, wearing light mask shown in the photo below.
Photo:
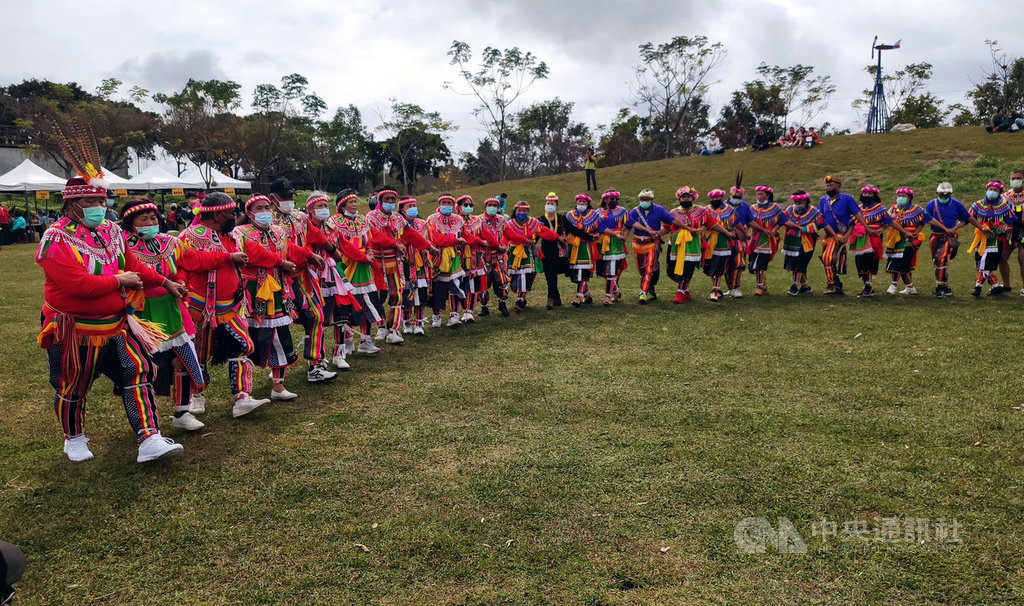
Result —
[[[345, 257], [357, 257], [360, 255], [357, 249], [348, 244], [348, 241], [339, 237], [337, 228], [331, 221], [331, 199], [323, 191], [313, 191], [306, 199], [306, 214], [309, 216], [309, 231], [322, 233], [327, 243], [334, 247], [333, 254], [324, 257], [324, 269], [319, 275], [313, 276], [319, 286], [321, 296], [324, 298], [324, 323], [334, 327], [335, 348], [331, 357], [332, 363], [339, 371], [347, 371], [351, 366], [345, 359], [348, 351], [345, 348], [345, 335], [348, 328], [349, 318], [352, 314], [352, 307], [356, 301], [352, 296], [352, 285], [348, 283], [344, 274], [339, 270], [339, 263]], [[318, 352], [318, 359], [327, 357], [327, 336], [321, 333], [322, 340]]]

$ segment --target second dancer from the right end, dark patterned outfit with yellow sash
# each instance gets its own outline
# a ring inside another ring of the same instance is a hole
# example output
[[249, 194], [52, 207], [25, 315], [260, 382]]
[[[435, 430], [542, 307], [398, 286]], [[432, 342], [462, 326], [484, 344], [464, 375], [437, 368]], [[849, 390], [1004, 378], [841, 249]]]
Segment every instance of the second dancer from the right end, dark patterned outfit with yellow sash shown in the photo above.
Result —
[[1002, 199], [1002, 183], [990, 181], [985, 186], [985, 197], [972, 204], [968, 214], [981, 224], [980, 228], [975, 227], [974, 241], [967, 250], [974, 253], [978, 266], [978, 279], [971, 295], [980, 297], [981, 287], [986, 282], [990, 285], [989, 296], [1001, 295], [1006, 291], [995, 277], [995, 270], [1010, 246], [1007, 232], [1017, 222], [1013, 207]]

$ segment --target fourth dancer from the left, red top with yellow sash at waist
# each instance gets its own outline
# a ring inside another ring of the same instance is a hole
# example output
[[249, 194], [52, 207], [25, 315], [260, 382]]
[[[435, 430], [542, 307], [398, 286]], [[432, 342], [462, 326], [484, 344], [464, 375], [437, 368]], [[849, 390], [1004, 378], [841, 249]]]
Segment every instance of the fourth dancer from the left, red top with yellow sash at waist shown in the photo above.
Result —
[[273, 223], [272, 208], [266, 196], [252, 196], [246, 201], [244, 222], [234, 227], [231, 237], [249, 255], [249, 262], [240, 269], [247, 293], [249, 336], [255, 346], [250, 358], [257, 366], [270, 369], [271, 400], [293, 400], [298, 395], [285, 388], [288, 367], [298, 361], [290, 330], [295, 300], [287, 277], [313, 253], [289, 242], [285, 230]]

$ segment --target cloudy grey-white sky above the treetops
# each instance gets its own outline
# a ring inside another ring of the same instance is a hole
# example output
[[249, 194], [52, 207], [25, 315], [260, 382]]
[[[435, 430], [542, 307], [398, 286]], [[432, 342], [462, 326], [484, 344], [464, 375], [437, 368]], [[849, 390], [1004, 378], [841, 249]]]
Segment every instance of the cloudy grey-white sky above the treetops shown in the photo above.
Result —
[[804, 63], [838, 88], [816, 122], [853, 130], [862, 125], [850, 102], [870, 86], [863, 68], [874, 35], [903, 41], [884, 68], [933, 63], [931, 89], [950, 101], [990, 63], [986, 39], [1014, 55], [1024, 50], [1024, 28], [1010, 27], [1024, 23], [1024, 5], [988, 0], [34, 0], [10, 2], [4, 14], [25, 27], [5, 29], [2, 84], [44, 78], [91, 90], [113, 76], [125, 88], [174, 92], [188, 78], [230, 79], [243, 85], [248, 110], [253, 87], [299, 73], [332, 112], [353, 103], [371, 128], [391, 97], [440, 112], [459, 125], [449, 138], [456, 153], [475, 149], [482, 136], [472, 99], [442, 86], [457, 77], [445, 54], [456, 39], [477, 52], [534, 52], [551, 74], [524, 101], [572, 101], [574, 118], [592, 128], [630, 104], [637, 46], [677, 35], [727, 48], [710, 95], [713, 118], [761, 61]]

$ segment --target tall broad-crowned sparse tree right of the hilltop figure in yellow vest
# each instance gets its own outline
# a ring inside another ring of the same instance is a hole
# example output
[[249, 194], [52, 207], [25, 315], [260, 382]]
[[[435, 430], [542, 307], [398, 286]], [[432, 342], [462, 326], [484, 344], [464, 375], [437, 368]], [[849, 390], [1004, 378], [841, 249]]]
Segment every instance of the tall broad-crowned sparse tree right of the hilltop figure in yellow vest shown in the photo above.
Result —
[[691, 152], [701, 127], [707, 128], [703, 97], [714, 84], [712, 73], [724, 58], [722, 43], [712, 43], [705, 36], [676, 36], [657, 46], [640, 45], [642, 62], [634, 68], [634, 104], [646, 107], [663, 158]]

